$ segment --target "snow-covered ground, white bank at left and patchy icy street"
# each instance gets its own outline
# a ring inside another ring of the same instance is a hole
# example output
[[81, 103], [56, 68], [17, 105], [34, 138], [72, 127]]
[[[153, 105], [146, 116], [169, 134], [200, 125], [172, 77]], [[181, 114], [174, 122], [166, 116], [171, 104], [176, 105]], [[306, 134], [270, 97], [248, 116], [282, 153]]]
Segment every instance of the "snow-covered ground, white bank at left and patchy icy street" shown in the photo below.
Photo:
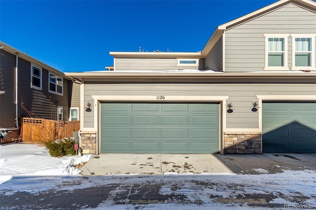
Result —
[[[82, 177], [75, 165], [90, 158], [54, 158], [44, 147], [32, 144], [0, 145], [0, 209], [20, 209], [22, 204], [23, 209], [96, 210], [316, 208], [316, 172], [311, 170], [261, 175]], [[29, 197], [31, 202], [26, 200]], [[52, 206], [53, 197], [59, 206]]]

